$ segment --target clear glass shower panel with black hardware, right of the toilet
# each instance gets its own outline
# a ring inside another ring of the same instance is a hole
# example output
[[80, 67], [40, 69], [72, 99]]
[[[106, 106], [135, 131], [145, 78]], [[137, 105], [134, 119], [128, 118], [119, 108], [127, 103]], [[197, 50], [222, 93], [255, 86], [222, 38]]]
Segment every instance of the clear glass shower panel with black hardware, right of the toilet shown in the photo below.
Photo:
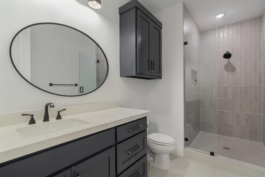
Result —
[[218, 145], [216, 87], [213, 85], [216, 50], [212, 50], [216, 49], [216, 41], [206, 35], [210, 34], [195, 32], [184, 36], [184, 143], [185, 148], [210, 154]]

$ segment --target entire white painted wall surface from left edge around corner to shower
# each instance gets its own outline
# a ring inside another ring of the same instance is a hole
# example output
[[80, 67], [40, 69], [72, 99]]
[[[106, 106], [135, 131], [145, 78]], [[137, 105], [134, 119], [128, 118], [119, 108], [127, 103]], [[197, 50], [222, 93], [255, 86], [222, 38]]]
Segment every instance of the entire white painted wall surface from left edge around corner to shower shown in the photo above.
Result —
[[[183, 148], [183, 4], [155, 14], [163, 23], [163, 74], [161, 80], [147, 81], [120, 78], [118, 7], [126, 2], [102, 0], [102, 8], [92, 10], [74, 0], [0, 1], [0, 113], [42, 109], [47, 102], [59, 107], [120, 100], [123, 107], [151, 110], [150, 132], [170, 135]], [[63, 97], [24, 81], [10, 62], [9, 44], [22, 27], [38, 22], [62, 23], [90, 35], [109, 62], [105, 83], [85, 96]]]

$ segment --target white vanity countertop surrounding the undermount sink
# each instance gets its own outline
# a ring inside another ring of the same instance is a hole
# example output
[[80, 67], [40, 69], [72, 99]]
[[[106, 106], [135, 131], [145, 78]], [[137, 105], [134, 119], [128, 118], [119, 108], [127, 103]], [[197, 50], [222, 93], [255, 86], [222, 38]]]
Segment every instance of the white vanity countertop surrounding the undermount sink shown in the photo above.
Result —
[[[150, 111], [130, 108], [112, 108], [82, 114], [62, 117], [61, 120], [50, 118], [49, 122], [36, 121], [36, 124], [27, 123], [0, 127], [0, 163], [19, 158], [23, 155], [37, 152], [64, 142], [87, 136], [111, 127], [118, 126], [142, 117], [148, 116]], [[22, 127], [49, 124], [67, 119], [79, 119], [88, 124], [51, 132], [35, 137], [23, 138], [17, 129]]]

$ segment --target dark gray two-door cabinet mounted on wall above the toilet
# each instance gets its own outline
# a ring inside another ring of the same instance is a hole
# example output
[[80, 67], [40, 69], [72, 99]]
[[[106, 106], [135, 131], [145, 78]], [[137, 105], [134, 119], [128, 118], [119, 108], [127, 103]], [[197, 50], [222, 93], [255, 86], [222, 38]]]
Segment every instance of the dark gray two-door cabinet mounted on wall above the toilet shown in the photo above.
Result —
[[162, 78], [162, 23], [137, 0], [119, 8], [120, 76]]

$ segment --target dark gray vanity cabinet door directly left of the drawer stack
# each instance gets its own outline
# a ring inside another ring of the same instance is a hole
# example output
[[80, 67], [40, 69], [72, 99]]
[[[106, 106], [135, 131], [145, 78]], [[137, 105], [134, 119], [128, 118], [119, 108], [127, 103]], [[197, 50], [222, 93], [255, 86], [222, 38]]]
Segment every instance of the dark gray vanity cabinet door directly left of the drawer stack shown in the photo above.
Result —
[[115, 177], [115, 147], [72, 167], [72, 177]]

